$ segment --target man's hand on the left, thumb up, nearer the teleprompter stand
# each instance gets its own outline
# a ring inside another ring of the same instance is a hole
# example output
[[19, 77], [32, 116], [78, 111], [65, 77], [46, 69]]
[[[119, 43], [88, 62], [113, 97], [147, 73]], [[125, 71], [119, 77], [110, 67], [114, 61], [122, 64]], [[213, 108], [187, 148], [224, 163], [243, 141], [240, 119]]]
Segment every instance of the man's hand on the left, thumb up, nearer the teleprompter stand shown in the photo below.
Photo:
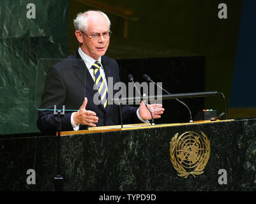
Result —
[[84, 103], [80, 106], [79, 111], [74, 113], [74, 122], [75, 124], [81, 124], [86, 126], [95, 127], [98, 122], [98, 117], [96, 117], [96, 113], [91, 110], [86, 110], [87, 98], [84, 98]]

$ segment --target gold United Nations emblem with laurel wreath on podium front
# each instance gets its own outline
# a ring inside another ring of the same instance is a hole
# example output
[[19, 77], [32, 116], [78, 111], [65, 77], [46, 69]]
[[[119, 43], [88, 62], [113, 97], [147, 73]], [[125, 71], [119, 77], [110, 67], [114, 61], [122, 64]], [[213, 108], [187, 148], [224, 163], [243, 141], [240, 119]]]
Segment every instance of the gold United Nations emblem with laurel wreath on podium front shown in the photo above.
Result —
[[200, 175], [204, 173], [210, 156], [210, 142], [207, 136], [201, 132], [186, 132], [181, 136], [179, 133], [170, 142], [170, 161], [179, 173], [179, 177], [187, 178], [188, 175]]

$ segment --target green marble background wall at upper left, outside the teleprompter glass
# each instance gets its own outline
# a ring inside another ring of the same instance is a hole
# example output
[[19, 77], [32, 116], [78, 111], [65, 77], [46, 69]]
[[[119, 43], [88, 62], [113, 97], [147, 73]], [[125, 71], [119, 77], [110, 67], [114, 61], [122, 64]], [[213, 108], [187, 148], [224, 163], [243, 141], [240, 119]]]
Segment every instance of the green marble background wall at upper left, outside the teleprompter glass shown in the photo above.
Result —
[[38, 132], [36, 64], [68, 54], [68, 0], [1, 0], [0, 25], [0, 135]]

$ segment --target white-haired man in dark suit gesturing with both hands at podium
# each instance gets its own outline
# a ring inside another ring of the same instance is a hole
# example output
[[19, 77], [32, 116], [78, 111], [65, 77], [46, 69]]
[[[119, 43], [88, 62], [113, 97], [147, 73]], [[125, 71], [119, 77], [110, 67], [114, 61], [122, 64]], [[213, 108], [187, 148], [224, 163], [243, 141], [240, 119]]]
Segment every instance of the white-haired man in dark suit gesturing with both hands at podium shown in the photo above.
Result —
[[[109, 77], [112, 77], [113, 84], [120, 82], [117, 62], [105, 56], [111, 34], [110, 20], [102, 11], [86, 11], [77, 15], [74, 25], [80, 47], [75, 54], [67, 58], [73, 60], [71, 66], [59, 62], [50, 69], [45, 81], [41, 107], [52, 109], [54, 105], [65, 105], [65, 109], [79, 110], [64, 114], [61, 118], [61, 131], [120, 124], [119, 106], [109, 104], [108, 100], [109, 91], [113, 91], [108, 90]], [[75, 59], [77, 61], [74, 61]], [[98, 91], [93, 89], [94, 84]], [[100, 94], [100, 105], [93, 101], [96, 93]], [[164, 110], [162, 105], [147, 106], [154, 119], [161, 117]], [[121, 106], [122, 118], [127, 124], [152, 119], [149, 110], [143, 101], [139, 108]], [[57, 131], [57, 117], [52, 111], [39, 111], [37, 126], [42, 132], [54, 133]]]

